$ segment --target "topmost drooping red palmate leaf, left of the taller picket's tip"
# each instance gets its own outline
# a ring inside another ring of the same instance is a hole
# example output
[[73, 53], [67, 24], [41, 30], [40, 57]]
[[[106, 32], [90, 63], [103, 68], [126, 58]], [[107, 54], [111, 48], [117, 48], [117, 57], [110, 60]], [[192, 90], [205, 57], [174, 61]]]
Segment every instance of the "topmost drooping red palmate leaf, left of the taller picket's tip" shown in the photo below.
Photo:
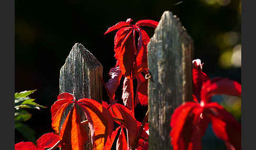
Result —
[[[114, 39], [115, 58], [118, 62], [117, 65], [119, 65], [122, 70], [122, 74], [128, 78], [133, 75], [132, 71], [134, 71], [133, 65], [135, 62], [135, 56], [139, 56], [137, 58], [138, 62], [136, 62], [135, 74], [140, 73], [143, 69], [147, 68], [146, 45], [149, 41], [149, 36], [139, 26], [155, 28], [158, 25], [158, 23], [153, 20], [140, 20], [136, 25], [131, 25], [130, 22], [132, 22], [132, 19], [129, 18], [126, 22], [116, 24], [106, 32], [109, 33], [110, 31], [119, 29], [116, 32]], [[140, 34], [138, 52], [135, 47], [135, 31], [139, 31]]]

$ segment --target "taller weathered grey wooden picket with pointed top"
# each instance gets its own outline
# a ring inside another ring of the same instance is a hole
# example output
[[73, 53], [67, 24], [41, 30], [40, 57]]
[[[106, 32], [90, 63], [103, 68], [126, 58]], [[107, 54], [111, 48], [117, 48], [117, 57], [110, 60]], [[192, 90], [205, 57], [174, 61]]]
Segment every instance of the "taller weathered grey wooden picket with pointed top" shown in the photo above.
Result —
[[179, 18], [164, 12], [147, 45], [149, 79], [149, 149], [172, 149], [171, 115], [192, 100], [193, 40]]

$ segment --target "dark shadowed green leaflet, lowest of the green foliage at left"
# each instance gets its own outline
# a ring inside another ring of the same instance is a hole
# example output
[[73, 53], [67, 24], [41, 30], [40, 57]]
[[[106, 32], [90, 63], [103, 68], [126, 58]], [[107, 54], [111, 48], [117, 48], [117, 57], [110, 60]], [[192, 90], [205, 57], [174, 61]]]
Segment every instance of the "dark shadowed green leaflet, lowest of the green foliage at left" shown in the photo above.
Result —
[[28, 141], [36, 143], [36, 138], [35, 138], [35, 131], [32, 130], [29, 126], [18, 122], [15, 123], [15, 129], [20, 132]]

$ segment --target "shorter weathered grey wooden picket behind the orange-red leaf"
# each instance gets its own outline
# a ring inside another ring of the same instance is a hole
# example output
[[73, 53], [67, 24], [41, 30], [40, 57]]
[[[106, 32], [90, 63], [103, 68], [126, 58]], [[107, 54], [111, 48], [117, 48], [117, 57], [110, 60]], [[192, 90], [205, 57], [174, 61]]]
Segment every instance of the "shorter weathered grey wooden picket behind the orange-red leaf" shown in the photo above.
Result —
[[[102, 73], [103, 67], [92, 53], [82, 44], [75, 44], [60, 71], [60, 93], [73, 93], [76, 100], [89, 98], [102, 103]], [[66, 109], [61, 127], [71, 108], [70, 106]], [[78, 108], [78, 112], [80, 112], [81, 121], [85, 121], [82, 109]], [[86, 129], [88, 131], [87, 127]], [[88, 147], [91, 145], [87, 143], [86, 149], [91, 149]]]

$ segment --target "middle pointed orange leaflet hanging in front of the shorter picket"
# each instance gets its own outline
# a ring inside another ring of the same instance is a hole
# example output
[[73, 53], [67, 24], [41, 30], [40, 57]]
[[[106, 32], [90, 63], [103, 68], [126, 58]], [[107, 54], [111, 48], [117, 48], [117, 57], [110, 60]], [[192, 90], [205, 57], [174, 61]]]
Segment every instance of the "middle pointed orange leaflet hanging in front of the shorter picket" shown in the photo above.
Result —
[[85, 128], [81, 124], [80, 115], [76, 107], [67, 114], [66, 120], [60, 132], [60, 140], [62, 141], [63, 150], [80, 150], [84, 149], [84, 144], [88, 137]]

